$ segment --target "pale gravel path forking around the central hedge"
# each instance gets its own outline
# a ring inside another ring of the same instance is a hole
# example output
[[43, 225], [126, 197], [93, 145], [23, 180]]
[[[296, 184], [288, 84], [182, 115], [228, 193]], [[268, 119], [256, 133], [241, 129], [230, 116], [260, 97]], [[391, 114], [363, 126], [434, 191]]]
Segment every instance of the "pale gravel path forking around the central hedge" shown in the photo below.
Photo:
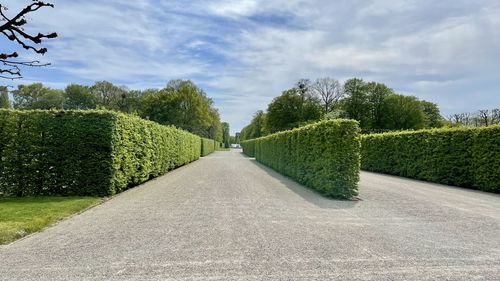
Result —
[[328, 200], [218, 152], [0, 246], [0, 280], [500, 280], [500, 196], [361, 178]]

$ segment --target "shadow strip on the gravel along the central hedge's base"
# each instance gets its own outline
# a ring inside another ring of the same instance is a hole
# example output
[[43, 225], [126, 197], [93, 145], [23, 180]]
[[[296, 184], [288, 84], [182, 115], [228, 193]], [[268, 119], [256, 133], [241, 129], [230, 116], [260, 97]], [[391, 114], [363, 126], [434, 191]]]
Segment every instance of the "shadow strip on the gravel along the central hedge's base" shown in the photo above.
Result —
[[350, 209], [350, 208], [354, 208], [354, 206], [356, 206], [356, 204], [358, 204], [360, 202], [357, 200], [337, 200], [337, 199], [331, 199], [331, 198], [324, 197], [319, 192], [316, 192], [313, 189], [305, 187], [305, 186], [295, 182], [291, 178], [286, 177], [286, 176], [274, 171], [273, 169], [257, 162], [255, 160], [255, 158], [250, 158], [246, 155], [245, 155], [245, 157], [249, 158], [249, 160], [252, 164], [254, 164], [255, 166], [262, 169], [269, 176], [279, 180], [286, 188], [293, 191], [295, 194], [299, 195], [307, 202], [318, 206], [319, 208], [322, 208], [322, 209]]

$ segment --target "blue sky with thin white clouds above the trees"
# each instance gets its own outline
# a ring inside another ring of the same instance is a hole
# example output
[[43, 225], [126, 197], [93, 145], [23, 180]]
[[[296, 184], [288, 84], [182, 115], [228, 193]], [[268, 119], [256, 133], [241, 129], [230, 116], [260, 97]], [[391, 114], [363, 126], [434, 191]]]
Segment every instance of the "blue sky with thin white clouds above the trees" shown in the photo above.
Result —
[[[28, 0], [4, 0], [8, 14]], [[53, 32], [15, 85], [130, 89], [190, 79], [237, 132], [301, 78], [352, 77], [437, 103], [444, 116], [500, 107], [498, 0], [49, 0], [27, 31]], [[0, 39], [0, 48], [13, 45]]]

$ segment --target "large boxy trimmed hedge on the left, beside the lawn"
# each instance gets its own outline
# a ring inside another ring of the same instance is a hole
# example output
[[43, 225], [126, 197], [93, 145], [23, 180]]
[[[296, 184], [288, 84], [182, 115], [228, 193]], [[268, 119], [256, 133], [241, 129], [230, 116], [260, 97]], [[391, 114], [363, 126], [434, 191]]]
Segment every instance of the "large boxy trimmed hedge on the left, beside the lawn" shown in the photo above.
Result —
[[0, 193], [107, 196], [200, 156], [200, 138], [109, 111], [0, 110]]

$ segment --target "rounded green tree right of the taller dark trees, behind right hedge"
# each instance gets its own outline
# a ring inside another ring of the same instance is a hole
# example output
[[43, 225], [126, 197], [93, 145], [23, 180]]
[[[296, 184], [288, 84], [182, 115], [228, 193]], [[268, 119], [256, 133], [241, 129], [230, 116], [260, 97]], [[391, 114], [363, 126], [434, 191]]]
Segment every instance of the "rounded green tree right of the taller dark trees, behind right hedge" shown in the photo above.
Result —
[[384, 100], [385, 129], [407, 130], [425, 127], [425, 114], [420, 101], [413, 96], [391, 95]]

